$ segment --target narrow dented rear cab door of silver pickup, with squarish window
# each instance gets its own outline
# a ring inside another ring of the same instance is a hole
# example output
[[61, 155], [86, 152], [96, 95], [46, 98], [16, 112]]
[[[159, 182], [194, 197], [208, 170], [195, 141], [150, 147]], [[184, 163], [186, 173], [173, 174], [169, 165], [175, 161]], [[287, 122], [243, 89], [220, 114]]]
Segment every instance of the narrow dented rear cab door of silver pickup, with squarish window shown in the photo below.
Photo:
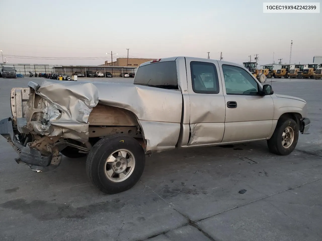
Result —
[[186, 70], [191, 130], [188, 146], [220, 143], [226, 110], [218, 62], [186, 58]]

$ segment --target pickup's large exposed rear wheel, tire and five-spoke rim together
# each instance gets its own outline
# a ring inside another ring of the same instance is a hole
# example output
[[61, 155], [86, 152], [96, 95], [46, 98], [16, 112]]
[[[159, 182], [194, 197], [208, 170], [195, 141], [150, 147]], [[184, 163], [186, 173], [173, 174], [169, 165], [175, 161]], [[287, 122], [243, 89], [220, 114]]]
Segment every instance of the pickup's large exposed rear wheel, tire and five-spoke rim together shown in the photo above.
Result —
[[145, 153], [139, 142], [125, 135], [100, 139], [90, 150], [86, 172], [102, 192], [114, 194], [133, 187], [145, 166]]

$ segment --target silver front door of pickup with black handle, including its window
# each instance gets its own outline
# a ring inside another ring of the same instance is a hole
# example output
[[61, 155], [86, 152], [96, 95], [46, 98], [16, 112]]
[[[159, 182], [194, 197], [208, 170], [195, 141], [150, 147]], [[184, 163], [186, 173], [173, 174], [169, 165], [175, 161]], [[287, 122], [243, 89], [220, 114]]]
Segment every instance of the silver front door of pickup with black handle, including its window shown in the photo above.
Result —
[[274, 103], [260, 96], [260, 85], [245, 69], [222, 64], [226, 119], [222, 142], [265, 139], [273, 125]]

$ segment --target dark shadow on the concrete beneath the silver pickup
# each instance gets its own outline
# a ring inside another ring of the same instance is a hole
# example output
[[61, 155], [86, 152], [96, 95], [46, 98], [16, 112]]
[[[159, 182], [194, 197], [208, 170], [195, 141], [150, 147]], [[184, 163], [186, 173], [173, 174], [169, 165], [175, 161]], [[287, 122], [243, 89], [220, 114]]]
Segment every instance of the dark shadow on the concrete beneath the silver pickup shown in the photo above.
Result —
[[[268, 151], [266, 141], [216, 147], [175, 149], [172, 151], [155, 153], [150, 157], [147, 156], [146, 167], [142, 177], [144, 177], [144, 180], [147, 182], [149, 179], [154, 179], [156, 176], [160, 179], [164, 179], [168, 174], [171, 174], [178, 169], [184, 170], [191, 167], [207, 169], [212, 165], [220, 165], [222, 162], [229, 162], [237, 159], [240, 159], [249, 165], [256, 164], [256, 160], [259, 158], [265, 158], [271, 155], [272, 154]], [[68, 179], [71, 185], [86, 182], [90, 183], [86, 174], [85, 164], [86, 157], [72, 159], [63, 156], [61, 165], [56, 170], [48, 173], [48, 176], [49, 178], [56, 179], [56, 184], [58, 184], [60, 180], [65, 182], [66, 179]], [[54, 176], [56, 176], [56, 178]], [[64, 178], [61, 179], [58, 176], [63, 176]]]

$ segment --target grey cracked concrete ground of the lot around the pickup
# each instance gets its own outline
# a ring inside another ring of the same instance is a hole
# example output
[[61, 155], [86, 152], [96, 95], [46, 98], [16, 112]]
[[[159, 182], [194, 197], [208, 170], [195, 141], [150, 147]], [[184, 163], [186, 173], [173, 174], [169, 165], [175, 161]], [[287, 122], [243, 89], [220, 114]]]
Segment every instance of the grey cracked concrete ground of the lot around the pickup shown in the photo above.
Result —
[[[43, 78], [0, 79], [0, 118], [10, 89], [30, 80]], [[265, 141], [163, 152], [119, 194], [90, 183], [85, 158], [38, 174], [0, 138], [0, 240], [322, 240], [322, 82], [275, 80], [275, 93], [308, 102], [310, 134], [292, 154], [272, 155]]]

